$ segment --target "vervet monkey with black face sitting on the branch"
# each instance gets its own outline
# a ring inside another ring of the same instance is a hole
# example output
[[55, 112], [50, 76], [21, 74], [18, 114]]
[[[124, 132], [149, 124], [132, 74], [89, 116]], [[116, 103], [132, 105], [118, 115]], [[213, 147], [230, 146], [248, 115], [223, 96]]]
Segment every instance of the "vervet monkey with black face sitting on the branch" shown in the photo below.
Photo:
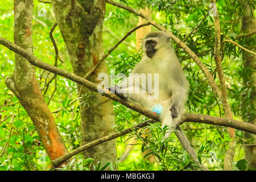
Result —
[[[118, 96], [137, 102], [148, 110], [152, 110], [155, 105], [162, 105], [162, 127], [175, 127], [187, 101], [188, 81], [170, 45], [170, 37], [165, 32], [151, 32], [146, 35], [142, 46], [144, 56], [135, 65], [131, 72], [133, 75], [129, 75], [121, 87], [112, 86], [112, 89], [115, 89]], [[142, 73], [150, 77], [147, 77], [146, 85]], [[139, 78], [139, 82], [134, 81], [134, 78]], [[150, 85], [154, 85], [154, 92], [149, 88]], [[165, 137], [169, 135], [167, 133]]]

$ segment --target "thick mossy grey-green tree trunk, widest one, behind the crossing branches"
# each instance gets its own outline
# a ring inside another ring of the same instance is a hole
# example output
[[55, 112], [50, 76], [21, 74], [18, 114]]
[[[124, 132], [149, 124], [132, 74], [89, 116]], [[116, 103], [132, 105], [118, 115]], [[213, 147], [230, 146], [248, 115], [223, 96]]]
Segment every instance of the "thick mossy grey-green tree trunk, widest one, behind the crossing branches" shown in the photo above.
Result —
[[[84, 77], [103, 56], [102, 23], [105, 16], [105, 1], [52, 1], [53, 11], [61, 35], [71, 58], [73, 72]], [[102, 63], [87, 79], [97, 83], [98, 73], [107, 73]], [[81, 92], [80, 92], [81, 90]], [[112, 101], [101, 94], [77, 85], [80, 99], [82, 145], [113, 133], [115, 125]], [[85, 158], [96, 162], [117, 159], [115, 140], [89, 148]]]

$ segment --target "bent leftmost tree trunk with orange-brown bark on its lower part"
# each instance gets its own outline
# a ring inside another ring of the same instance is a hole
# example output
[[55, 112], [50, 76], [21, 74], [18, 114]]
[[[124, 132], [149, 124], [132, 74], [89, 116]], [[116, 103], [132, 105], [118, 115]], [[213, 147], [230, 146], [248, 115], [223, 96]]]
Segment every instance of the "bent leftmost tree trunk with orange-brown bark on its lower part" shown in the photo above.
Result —
[[[33, 0], [14, 1], [14, 43], [30, 53], [33, 53], [33, 6]], [[52, 113], [40, 92], [34, 66], [15, 53], [15, 70], [12, 76], [6, 77], [6, 85], [26, 109], [49, 158], [53, 160], [67, 154]]]

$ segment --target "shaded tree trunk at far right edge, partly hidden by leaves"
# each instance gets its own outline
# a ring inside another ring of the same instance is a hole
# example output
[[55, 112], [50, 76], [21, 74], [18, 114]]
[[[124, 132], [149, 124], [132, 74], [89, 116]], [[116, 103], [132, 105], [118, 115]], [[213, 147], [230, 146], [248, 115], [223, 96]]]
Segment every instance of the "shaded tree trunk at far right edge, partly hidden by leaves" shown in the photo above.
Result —
[[[256, 30], [256, 21], [254, 17], [254, 9], [252, 6], [247, 5], [245, 9], [245, 13], [242, 16], [242, 26], [241, 32], [248, 33]], [[246, 37], [245, 40], [248, 42], [246, 46], [255, 47], [255, 36], [251, 35]], [[253, 48], [250, 51], [256, 52], [256, 49]], [[243, 51], [243, 68], [246, 69], [246, 72], [251, 73], [249, 76], [243, 79], [244, 84], [247, 85], [248, 83], [251, 84], [251, 87], [256, 86], [256, 56], [251, 55], [248, 52]], [[253, 82], [248, 82], [253, 80]], [[253, 110], [255, 113], [256, 109], [256, 92], [255, 89], [252, 90], [250, 94], [250, 110]], [[248, 105], [243, 105], [243, 110], [248, 110]], [[246, 114], [243, 115], [243, 121], [252, 123], [256, 125], [256, 115], [253, 114]], [[254, 144], [254, 145], [245, 145], [245, 159], [248, 162], [248, 168], [256, 168], [256, 135], [250, 133], [244, 133], [244, 138], [246, 140], [250, 140], [249, 143], [245, 144]]]

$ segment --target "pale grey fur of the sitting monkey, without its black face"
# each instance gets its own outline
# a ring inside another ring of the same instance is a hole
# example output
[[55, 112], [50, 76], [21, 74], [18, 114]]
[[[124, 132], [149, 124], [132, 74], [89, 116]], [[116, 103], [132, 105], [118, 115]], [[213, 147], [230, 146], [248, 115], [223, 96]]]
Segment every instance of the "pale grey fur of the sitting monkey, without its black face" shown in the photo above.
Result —
[[[171, 48], [169, 36], [162, 31], [151, 32], [143, 40], [144, 52], [146, 51], [145, 42], [147, 40], [156, 41], [155, 55], [149, 58], [144, 53], [142, 60], [135, 65], [131, 73], [159, 73], [159, 97], [149, 100], [148, 98], [152, 96], [152, 93], [148, 93], [148, 90], [146, 93], [129, 93], [129, 90], [134, 90], [136, 85], [122, 86], [122, 96], [137, 102], [149, 110], [152, 110], [155, 104], [162, 104], [163, 111], [160, 114], [162, 127], [164, 125], [175, 127], [177, 121], [179, 121], [183, 114], [189, 84], [181, 68], [181, 64], [177, 60], [174, 50]], [[128, 77], [123, 83], [127, 84], [131, 79], [133, 77]], [[142, 91], [141, 84], [138, 89]], [[169, 135], [167, 134], [166, 137]]]

